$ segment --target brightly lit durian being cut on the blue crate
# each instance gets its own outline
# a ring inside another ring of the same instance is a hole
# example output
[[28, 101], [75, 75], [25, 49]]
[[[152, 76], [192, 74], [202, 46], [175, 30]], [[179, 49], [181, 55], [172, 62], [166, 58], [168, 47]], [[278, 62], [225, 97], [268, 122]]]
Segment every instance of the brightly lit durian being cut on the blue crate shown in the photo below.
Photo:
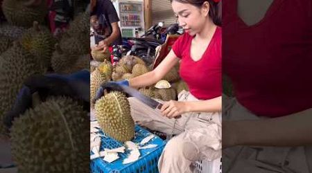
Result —
[[108, 136], [120, 142], [132, 140], [135, 136], [130, 104], [123, 93], [113, 91], [97, 100], [95, 113], [98, 124]]

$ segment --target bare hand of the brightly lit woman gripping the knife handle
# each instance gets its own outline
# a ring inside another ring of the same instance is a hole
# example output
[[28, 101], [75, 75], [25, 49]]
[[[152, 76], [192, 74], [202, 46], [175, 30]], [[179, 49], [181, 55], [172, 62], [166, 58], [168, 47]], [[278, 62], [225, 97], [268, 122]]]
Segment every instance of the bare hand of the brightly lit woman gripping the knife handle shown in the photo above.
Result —
[[162, 116], [175, 118], [176, 116], [180, 116], [182, 113], [187, 112], [187, 102], [170, 100], [168, 102], [164, 102], [160, 111], [162, 111]]

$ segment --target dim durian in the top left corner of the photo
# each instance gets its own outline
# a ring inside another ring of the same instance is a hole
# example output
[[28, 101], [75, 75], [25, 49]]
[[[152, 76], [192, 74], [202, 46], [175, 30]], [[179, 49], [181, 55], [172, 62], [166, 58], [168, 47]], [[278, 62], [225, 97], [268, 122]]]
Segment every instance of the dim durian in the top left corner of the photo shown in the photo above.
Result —
[[38, 21], [40, 24], [44, 22], [44, 17], [49, 12], [47, 1], [40, 1], [39, 4], [33, 2], [35, 1], [3, 0], [2, 10], [8, 23], [30, 27], [33, 21]]

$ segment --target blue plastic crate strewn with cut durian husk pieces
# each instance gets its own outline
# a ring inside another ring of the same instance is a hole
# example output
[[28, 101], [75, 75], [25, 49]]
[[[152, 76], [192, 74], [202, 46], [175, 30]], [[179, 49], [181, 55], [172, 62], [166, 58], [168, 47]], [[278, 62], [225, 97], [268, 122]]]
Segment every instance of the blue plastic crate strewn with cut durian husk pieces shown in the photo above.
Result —
[[[103, 131], [100, 132], [103, 134]], [[139, 143], [145, 137], [149, 136], [151, 133], [138, 125], [135, 126], [135, 138], [132, 140], [134, 143]], [[158, 136], [155, 136], [152, 140], [150, 140], [148, 144], [156, 144], [157, 147], [150, 149], [139, 149], [140, 157], [139, 160], [123, 165], [123, 159], [126, 158], [129, 154], [128, 150], [125, 150], [125, 153], [119, 153], [119, 159], [112, 162], [107, 163], [103, 161], [103, 158], [96, 158], [91, 161], [91, 172], [92, 173], [157, 173], [158, 168], [158, 160], [160, 155], [162, 154], [162, 150], [166, 145], [166, 141], [162, 140]], [[103, 151], [104, 148], [112, 149], [116, 147], [123, 146], [122, 143], [114, 140], [110, 137], [101, 137], [101, 148], [100, 151]], [[93, 154], [92, 152], [90, 154]]]

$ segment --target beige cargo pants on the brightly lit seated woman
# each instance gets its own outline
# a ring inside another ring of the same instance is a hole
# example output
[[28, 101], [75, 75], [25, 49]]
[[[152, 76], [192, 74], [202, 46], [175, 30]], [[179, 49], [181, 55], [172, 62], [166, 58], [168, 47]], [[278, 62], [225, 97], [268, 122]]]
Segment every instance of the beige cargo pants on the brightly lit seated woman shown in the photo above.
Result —
[[[136, 98], [128, 98], [132, 118], [141, 126], [166, 134], [175, 134], [168, 140], [159, 158], [159, 172], [193, 172], [191, 163], [221, 157], [221, 113], [185, 113], [177, 120], [162, 116]], [[191, 93], [182, 91], [180, 101], [196, 101]]]

